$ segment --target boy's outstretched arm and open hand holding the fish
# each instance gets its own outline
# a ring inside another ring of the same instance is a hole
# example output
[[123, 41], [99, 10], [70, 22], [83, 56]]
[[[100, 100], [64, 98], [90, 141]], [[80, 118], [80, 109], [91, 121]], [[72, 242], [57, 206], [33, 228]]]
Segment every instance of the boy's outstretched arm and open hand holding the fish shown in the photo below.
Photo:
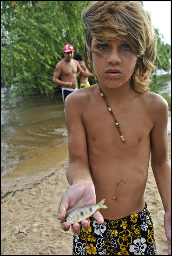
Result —
[[[86, 130], [81, 118], [81, 108], [84, 100], [78, 94], [70, 94], [65, 101], [66, 125], [68, 131], [68, 150], [69, 166], [67, 168], [67, 180], [70, 187], [63, 195], [60, 206], [58, 219], [62, 220], [71, 210], [96, 203], [96, 195], [93, 180], [90, 174]], [[99, 223], [103, 223], [103, 217], [96, 212], [94, 218]], [[89, 222], [82, 221], [84, 229], [89, 229]], [[61, 225], [61, 228], [67, 231], [70, 228], [69, 223]], [[73, 233], [79, 233], [79, 223], [73, 224]]]

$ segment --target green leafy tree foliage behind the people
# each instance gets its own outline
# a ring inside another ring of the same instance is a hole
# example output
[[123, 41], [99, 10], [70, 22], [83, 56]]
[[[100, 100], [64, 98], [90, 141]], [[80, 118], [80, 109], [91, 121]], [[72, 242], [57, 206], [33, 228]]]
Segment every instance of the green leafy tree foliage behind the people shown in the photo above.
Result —
[[[11, 88], [13, 95], [48, 95], [59, 88], [52, 81], [60, 61], [55, 52], [63, 57], [63, 47], [70, 43], [74, 54], [84, 54], [81, 12], [89, 2], [1, 1], [1, 84]], [[166, 71], [171, 48], [156, 32], [159, 58], [155, 65]]]

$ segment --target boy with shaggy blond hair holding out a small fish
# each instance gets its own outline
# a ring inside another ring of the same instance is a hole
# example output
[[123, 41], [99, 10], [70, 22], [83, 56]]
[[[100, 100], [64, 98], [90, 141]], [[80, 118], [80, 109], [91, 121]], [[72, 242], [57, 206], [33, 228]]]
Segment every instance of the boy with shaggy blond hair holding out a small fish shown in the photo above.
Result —
[[97, 84], [66, 99], [70, 187], [58, 218], [106, 198], [107, 209], [73, 224], [73, 254], [157, 254], [144, 197], [151, 153], [171, 254], [168, 106], [148, 91], [156, 57], [150, 16], [139, 1], [93, 1], [81, 17]]

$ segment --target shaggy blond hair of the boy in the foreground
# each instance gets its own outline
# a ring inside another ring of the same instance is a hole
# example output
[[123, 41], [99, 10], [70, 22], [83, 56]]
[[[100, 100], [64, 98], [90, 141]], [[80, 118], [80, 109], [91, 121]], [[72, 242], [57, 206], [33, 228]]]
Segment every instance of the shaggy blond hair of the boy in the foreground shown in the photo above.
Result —
[[156, 67], [157, 36], [151, 17], [139, 1], [93, 1], [82, 12], [85, 24], [84, 59], [92, 61], [92, 39], [107, 41], [125, 39], [138, 57], [138, 64], [131, 77], [131, 87], [145, 93], [149, 90], [151, 71]]

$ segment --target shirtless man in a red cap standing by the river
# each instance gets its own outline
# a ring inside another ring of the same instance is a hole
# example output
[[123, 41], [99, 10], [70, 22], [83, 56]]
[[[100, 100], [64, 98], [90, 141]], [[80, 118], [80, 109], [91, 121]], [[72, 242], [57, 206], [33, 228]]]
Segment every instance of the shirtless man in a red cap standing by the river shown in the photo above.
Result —
[[65, 58], [57, 63], [53, 74], [53, 83], [60, 85], [62, 88], [63, 102], [65, 102], [68, 94], [78, 89], [77, 74], [81, 74], [85, 77], [95, 76], [93, 73], [84, 72], [79, 62], [73, 60], [74, 51], [73, 46], [70, 44], [63, 47]]

